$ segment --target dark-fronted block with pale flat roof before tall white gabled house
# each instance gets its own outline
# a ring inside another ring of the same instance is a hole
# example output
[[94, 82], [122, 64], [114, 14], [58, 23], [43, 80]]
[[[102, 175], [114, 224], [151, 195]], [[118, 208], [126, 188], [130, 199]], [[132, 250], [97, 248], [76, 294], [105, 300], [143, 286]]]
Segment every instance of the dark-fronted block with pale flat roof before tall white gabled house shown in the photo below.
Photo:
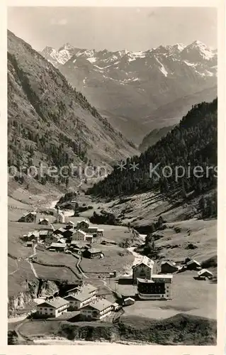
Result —
[[137, 294], [140, 300], [169, 300], [173, 275], [152, 275], [152, 280], [137, 278]]

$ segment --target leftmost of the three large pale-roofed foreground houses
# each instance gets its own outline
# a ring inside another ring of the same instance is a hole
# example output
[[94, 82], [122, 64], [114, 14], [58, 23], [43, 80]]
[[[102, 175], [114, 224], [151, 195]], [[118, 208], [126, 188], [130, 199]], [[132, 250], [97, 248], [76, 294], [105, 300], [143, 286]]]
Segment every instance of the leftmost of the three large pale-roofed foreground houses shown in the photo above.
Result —
[[53, 298], [37, 305], [37, 313], [42, 317], [59, 317], [67, 312], [69, 302], [62, 297]]

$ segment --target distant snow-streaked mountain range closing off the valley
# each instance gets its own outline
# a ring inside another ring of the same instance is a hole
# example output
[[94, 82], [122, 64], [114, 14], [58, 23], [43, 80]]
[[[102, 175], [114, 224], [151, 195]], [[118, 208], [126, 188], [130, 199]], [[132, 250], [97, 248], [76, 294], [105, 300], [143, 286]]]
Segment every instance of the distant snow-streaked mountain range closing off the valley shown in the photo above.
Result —
[[[130, 130], [132, 119], [139, 143], [147, 133], [145, 129], [159, 127], [158, 121], [150, 121], [145, 127], [140, 125], [152, 111], [217, 84], [216, 50], [210, 50], [199, 41], [187, 46], [159, 46], [144, 52], [79, 50], [67, 44], [60, 50], [45, 48], [42, 54], [59, 67], [69, 82], [106, 114], [114, 126], [136, 140], [135, 132]], [[205, 97], [208, 90], [203, 94], [203, 100], [208, 101], [209, 97]], [[193, 99], [189, 104], [202, 101]], [[179, 116], [175, 119], [174, 124]], [[165, 121], [162, 124], [168, 125]]]

